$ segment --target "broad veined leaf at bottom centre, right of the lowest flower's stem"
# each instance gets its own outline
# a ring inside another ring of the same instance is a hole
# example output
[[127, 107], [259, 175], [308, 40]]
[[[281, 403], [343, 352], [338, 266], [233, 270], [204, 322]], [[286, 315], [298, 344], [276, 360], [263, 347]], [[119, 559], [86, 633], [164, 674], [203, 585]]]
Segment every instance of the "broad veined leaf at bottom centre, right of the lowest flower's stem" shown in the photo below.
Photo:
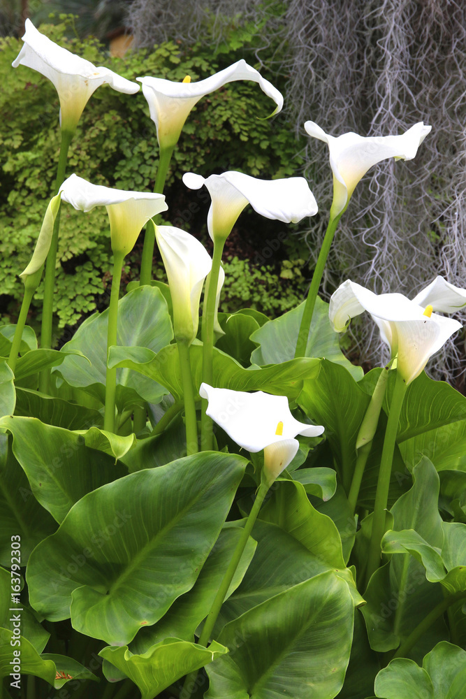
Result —
[[353, 635], [348, 586], [326, 572], [231, 621], [230, 654], [207, 665], [206, 699], [332, 699], [342, 688]]

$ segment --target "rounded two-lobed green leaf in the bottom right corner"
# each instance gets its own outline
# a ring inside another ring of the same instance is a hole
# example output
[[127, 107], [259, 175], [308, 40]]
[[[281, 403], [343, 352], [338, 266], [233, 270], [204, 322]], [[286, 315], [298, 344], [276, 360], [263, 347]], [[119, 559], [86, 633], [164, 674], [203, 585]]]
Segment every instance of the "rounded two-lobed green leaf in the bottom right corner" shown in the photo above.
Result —
[[395, 658], [380, 670], [374, 690], [381, 699], [463, 699], [466, 696], [466, 651], [441, 641], [419, 668]]

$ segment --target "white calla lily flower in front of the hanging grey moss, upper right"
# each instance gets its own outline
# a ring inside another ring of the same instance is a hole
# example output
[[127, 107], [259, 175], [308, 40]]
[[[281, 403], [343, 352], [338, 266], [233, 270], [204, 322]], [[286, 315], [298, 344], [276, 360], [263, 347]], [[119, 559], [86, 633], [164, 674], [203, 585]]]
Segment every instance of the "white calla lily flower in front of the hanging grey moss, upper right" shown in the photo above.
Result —
[[351, 194], [367, 170], [381, 160], [412, 160], [419, 145], [432, 127], [423, 122], [414, 124], [400, 136], [359, 136], [350, 131], [342, 136], [330, 136], [314, 122], [305, 122], [307, 134], [327, 143], [330, 167], [333, 171], [333, 203], [330, 218], [347, 207]]

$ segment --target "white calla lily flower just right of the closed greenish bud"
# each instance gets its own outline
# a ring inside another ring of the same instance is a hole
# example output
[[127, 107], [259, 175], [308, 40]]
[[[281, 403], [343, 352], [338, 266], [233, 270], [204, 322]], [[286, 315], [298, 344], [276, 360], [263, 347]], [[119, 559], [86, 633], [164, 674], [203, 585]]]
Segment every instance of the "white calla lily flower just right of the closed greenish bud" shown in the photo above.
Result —
[[92, 185], [78, 175], [71, 175], [61, 185], [61, 201], [80, 211], [105, 206], [110, 220], [110, 238], [114, 253], [128, 254], [133, 250], [139, 233], [147, 221], [168, 206], [163, 194], [130, 192], [103, 185]]

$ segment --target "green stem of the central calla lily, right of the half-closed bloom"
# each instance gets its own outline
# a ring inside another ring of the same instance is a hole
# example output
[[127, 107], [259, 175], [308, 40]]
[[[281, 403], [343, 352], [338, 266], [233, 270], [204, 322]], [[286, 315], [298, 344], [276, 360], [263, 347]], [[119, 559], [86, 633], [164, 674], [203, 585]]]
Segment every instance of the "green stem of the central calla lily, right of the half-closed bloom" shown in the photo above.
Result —
[[[226, 239], [225, 239], [226, 240]], [[204, 291], [204, 305], [201, 338], [203, 341], [203, 373], [202, 380], [206, 384], [212, 385], [212, 361], [214, 356], [214, 320], [215, 301], [217, 300], [217, 284], [219, 282], [219, 271], [221, 264], [221, 254], [224, 252], [225, 240], [214, 240], [214, 254], [212, 257], [212, 269], [207, 277]], [[208, 401], [203, 398], [201, 401], [201, 450], [203, 452], [212, 449], [214, 435], [212, 432], [212, 420], [206, 414]]]

